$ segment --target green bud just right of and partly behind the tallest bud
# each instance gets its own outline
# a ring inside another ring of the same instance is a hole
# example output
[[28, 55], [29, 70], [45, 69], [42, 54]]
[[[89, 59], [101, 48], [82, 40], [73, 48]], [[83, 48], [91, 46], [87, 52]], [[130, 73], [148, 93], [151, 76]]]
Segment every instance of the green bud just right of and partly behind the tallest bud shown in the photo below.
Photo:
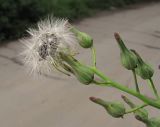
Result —
[[153, 68], [147, 63], [145, 63], [140, 57], [140, 55], [135, 50], [132, 50], [132, 52], [134, 52], [134, 54], [138, 58], [137, 68], [135, 69], [136, 74], [139, 75], [143, 79], [151, 79], [151, 77], [154, 74]]

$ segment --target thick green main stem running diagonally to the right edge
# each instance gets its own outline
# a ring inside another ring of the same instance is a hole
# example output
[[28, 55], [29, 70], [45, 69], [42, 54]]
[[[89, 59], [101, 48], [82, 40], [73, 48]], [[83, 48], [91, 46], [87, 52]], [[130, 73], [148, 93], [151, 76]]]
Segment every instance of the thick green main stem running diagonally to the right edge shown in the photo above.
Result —
[[160, 109], [160, 102], [158, 100], [153, 100], [153, 99], [150, 99], [138, 92], [136, 92], [135, 90], [132, 90], [132, 89], [129, 89], [128, 87], [124, 86], [124, 85], [121, 85], [117, 82], [114, 82], [112, 81], [111, 79], [109, 79], [108, 77], [106, 77], [102, 72], [100, 72], [97, 68], [91, 68], [93, 69], [94, 73], [99, 76], [100, 78], [102, 78], [104, 81], [106, 82], [110, 82], [110, 85], [114, 88], [117, 88], [121, 91], [124, 91], [130, 95], [133, 95], [137, 98], [139, 98], [140, 100], [142, 100], [143, 102], [147, 103], [148, 105], [151, 105], [155, 108], [158, 108]]

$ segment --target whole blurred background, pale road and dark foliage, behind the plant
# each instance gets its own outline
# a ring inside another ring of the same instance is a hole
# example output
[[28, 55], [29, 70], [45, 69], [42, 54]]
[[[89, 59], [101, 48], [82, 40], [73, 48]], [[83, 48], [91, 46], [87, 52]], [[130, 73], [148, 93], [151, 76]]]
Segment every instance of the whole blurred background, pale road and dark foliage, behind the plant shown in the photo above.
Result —
[[[39, 78], [26, 72], [19, 59], [22, 44], [18, 39], [27, 37], [28, 27], [51, 14], [68, 18], [91, 35], [97, 67], [134, 88], [132, 73], [121, 66], [113, 37], [119, 32], [126, 45], [153, 66], [153, 80], [160, 91], [160, 0], [0, 0], [0, 127], [145, 127], [131, 114], [124, 119], [112, 118], [88, 99], [96, 96], [123, 102], [121, 95], [125, 93], [85, 86], [58, 72]], [[77, 58], [90, 64], [90, 50], [79, 52]], [[146, 81], [138, 81], [142, 93], [153, 97]], [[150, 117], [160, 116], [159, 110], [147, 109]]]

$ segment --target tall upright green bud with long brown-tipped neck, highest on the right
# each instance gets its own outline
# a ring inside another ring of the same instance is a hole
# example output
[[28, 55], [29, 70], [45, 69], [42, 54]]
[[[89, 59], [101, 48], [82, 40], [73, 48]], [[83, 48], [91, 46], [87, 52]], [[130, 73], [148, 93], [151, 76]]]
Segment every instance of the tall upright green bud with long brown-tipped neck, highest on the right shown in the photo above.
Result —
[[114, 36], [121, 50], [120, 57], [122, 65], [128, 70], [133, 70], [134, 68], [137, 67], [138, 60], [136, 55], [129, 49], [127, 49], [127, 47], [125, 46], [123, 40], [121, 39], [118, 33], [115, 33]]

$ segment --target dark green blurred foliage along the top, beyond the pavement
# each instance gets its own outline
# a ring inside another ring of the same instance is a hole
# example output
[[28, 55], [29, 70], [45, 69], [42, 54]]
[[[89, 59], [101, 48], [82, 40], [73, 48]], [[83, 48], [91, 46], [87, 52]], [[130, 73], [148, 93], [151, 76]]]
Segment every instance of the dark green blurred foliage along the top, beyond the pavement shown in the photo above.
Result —
[[0, 41], [24, 36], [28, 26], [54, 14], [74, 21], [96, 10], [151, 0], [0, 0]]

